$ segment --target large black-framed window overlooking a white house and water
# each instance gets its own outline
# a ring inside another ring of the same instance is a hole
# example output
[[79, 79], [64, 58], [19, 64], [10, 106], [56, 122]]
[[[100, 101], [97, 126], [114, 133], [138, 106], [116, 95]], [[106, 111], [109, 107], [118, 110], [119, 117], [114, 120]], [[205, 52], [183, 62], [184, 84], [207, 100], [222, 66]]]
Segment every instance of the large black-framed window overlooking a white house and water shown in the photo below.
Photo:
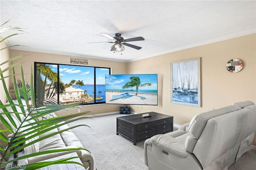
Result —
[[106, 103], [105, 75], [110, 68], [34, 63], [36, 104]]

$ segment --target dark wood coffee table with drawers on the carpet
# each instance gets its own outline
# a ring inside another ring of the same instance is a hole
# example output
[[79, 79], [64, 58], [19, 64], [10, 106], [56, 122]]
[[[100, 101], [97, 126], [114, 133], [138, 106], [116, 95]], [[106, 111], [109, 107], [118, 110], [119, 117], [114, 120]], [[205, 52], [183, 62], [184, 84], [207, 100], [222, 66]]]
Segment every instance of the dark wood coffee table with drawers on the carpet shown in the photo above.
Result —
[[128, 115], [116, 118], [116, 134], [133, 141], [136, 145], [138, 141], [146, 140], [156, 134], [164, 134], [173, 131], [173, 117], [148, 112], [150, 117], [142, 117], [142, 114]]

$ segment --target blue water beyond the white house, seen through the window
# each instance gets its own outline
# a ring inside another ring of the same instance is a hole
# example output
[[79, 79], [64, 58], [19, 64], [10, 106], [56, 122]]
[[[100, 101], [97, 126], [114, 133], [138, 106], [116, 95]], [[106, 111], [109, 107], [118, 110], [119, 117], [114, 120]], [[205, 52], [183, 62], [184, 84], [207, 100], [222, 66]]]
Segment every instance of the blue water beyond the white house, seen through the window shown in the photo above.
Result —
[[[76, 87], [77, 89], [79, 88], [78, 85], [72, 85], [73, 87]], [[105, 93], [105, 88], [106, 86], [105, 85], [96, 85], [96, 97], [103, 97], [102, 100], [98, 100], [96, 102], [104, 102], [106, 101], [106, 93]], [[91, 97], [95, 97], [94, 96], [94, 85], [84, 85], [84, 86], [81, 86], [79, 89], [82, 89], [82, 90], [86, 90], [86, 93], [89, 94]], [[101, 93], [99, 94], [98, 92], [101, 91]]]

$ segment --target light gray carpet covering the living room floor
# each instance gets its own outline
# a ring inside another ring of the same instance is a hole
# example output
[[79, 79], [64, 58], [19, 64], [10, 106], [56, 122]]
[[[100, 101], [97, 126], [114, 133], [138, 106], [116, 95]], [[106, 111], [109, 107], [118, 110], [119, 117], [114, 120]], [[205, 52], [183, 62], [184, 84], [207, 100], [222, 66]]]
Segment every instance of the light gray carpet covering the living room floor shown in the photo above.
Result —
[[[94, 170], [148, 170], [144, 164], [144, 141], [133, 142], [116, 135], [116, 117], [119, 114], [81, 119], [71, 125], [84, 124], [88, 127], [72, 129], [84, 147], [92, 153]], [[255, 170], [256, 151], [250, 150], [228, 170]]]

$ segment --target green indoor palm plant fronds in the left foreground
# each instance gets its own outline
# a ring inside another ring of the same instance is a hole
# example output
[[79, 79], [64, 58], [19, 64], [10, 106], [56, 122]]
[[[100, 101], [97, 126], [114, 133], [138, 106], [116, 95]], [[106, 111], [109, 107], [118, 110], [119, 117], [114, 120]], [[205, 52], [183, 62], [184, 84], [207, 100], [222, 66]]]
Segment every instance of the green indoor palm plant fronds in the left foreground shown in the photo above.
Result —
[[[20, 68], [21, 68], [21, 75], [22, 75], [21, 76], [22, 77], [21, 85], [23, 87], [22, 91], [24, 93], [24, 99], [25, 99], [26, 103], [28, 103], [29, 102], [28, 101], [28, 93], [26, 93], [27, 89], [26, 89], [26, 83], [25, 83], [25, 80], [24, 80], [24, 73], [23, 73], [22, 63], [21, 62], [20, 62]], [[12, 69], [13, 69], [13, 67], [12, 67]], [[31, 73], [32, 73], [32, 69], [31, 69]], [[1, 79], [4, 80], [3, 79], [3, 72], [1, 71], [1, 69], [0, 69], [0, 75], [1, 75]], [[5, 136], [4, 133], [2, 133], [2, 131], [1, 131], [0, 137], [1, 137], [2, 141], [10, 142], [11, 143], [11, 142], [15, 142], [15, 141], [19, 140], [18, 142], [16, 142], [12, 146], [7, 146], [7, 148], [0, 147], [2, 151], [6, 151], [4, 153], [4, 156], [3, 156], [4, 158], [8, 157], [11, 154], [13, 154], [14, 152], [16, 152], [18, 150], [21, 150], [21, 149], [23, 149], [23, 148], [25, 148], [27, 146], [30, 146], [30, 145], [32, 145], [32, 144], [34, 144], [36, 142], [39, 142], [41, 140], [45, 140], [46, 138], [48, 138], [50, 136], [53, 136], [53, 135], [56, 135], [56, 134], [60, 134], [61, 132], [64, 132], [66, 130], [69, 130], [69, 129], [72, 129], [72, 128], [76, 128], [76, 127], [79, 127], [79, 126], [87, 126], [87, 125], [77, 125], [77, 126], [74, 126], [74, 127], [69, 127], [69, 128], [65, 128], [63, 130], [59, 130], [57, 132], [52, 132], [52, 133], [50, 133], [50, 134], [48, 134], [46, 136], [40, 137], [40, 138], [38, 138], [38, 139], [36, 139], [36, 140], [34, 140], [32, 142], [29, 142], [29, 143], [27, 143], [25, 145], [19, 146], [18, 148], [16, 148], [16, 149], [12, 150], [11, 152], [7, 153], [7, 150], [9, 150], [11, 148], [14, 148], [15, 146], [18, 146], [19, 144], [22, 144], [22, 143], [26, 142], [29, 139], [32, 139], [32, 138], [34, 138], [34, 137], [36, 137], [36, 136], [38, 136], [40, 134], [48, 132], [49, 130], [52, 130], [54, 128], [58, 128], [58, 127], [60, 127], [62, 125], [66, 125], [68, 123], [71, 123], [73, 121], [81, 119], [81, 117], [79, 117], [79, 118], [76, 118], [76, 117], [82, 116], [85, 113], [91, 113], [90, 111], [85, 111], [85, 112], [80, 112], [80, 113], [72, 113], [72, 114], [67, 114], [67, 115], [60, 116], [60, 117], [53, 117], [53, 118], [49, 118], [49, 119], [45, 119], [45, 120], [41, 120], [41, 121], [36, 121], [34, 123], [30, 123], [30, 124], [26, 124], [25, 125], [23, 123], [31, 121], [31, 120], [39, 118], [39, 117], [42, 117], [44, 115], [48, 115], [49, 113], [54, 113], [56, 111], [60, 111], [60, 110], [63, 110], [63, 109], [66, 110], [68, 108], [78, 107], [79, 103], [75, 103], [75, 104], [72, 104], [72, 105], [58, 105], [58, 104], [54, 104], [54, 103], [41, 103], [40, 106], [43, 106], [43, 107], [39, 108], [39, 109], [34, 109], [33, 106], [32, 107], [28, 107], [28, 110], [30, 110], [30, 111], [26, 115], [26, 110], [25, 110], [26, 106], [22, 104], [22, 100], [20, 98], [20, 93], [19, 93], [19, 88], [18, 88], [18, 84], [20, 82], [17, 83], [15, 75], [16, 74], [15, 74], [15, 71], [13, 69], [13, 81], [14, 81], [13, 87], [14, 87], [15, 95], [17, 97], [18, 104], [14, 104], [14, 102], [12, 101], [11, 98], [8, 98], [8, 102], [10, 104], [4, 105], [2, 103], [2, 101], [0, 101], [1, 109], [3, 111], [2, 113], [0, 113], [1, 114], [0, 115], [0, 120], [1, 120], [1, 122], [6, 126], [6, 128], [10, 132], [14, 133], [14, 135], [18, 135], [18, 134], [22, 134], [22, 135], [20, 135], [17, 138], [14, 138], [11, 141], [8, 141], [8, 137]], [[32, 76], [31, 76], [31, 78], [32, 78]], [[33, 83], [33, 81], [30, 81], [30, 83]], [[3, 84], [4, 84], [4, 89], [7, 89], [6, 84], [5, 83], [3, 83]], [[33, 88], [31, 88], [31, 89], [33, 89]], [[34, 96], [34, 91], [33, 90], [31, 91], [31, 94], [32, 94], [32, 96]], [[10, 95], [9, 92], [6, 91], [6, 96], [9, 96], [9, 95]], [[29, 106], [29, 105], [27, 104], [27, 106]], [[12, 108], [12, 112], [8, 111], [8, 107]], [[21, 111], [20, 112], [17, 111], [16, 107], [19, 107], [21, 109]], [[12, 119], [11, 114], [15, 114], [16, 117], [19, 119], [19, 121], [21, 123], [19, 127], [16, 126], [16, 123]], [[6, 121], [6, 118], [3, 117], [4, 115], [7, 117], [7, 121]], [[23, 115], [24, 119], [22, 119], [22, 115]], [[87, 117], [82, 117], [82, 118], [86, 119]], [[31, 125], [33, 125], [33, 127], [26, 128], [26, 127], [31, 126]], [[15, 127], [16, 130], [13, 130], [12, 127]], [[25, 128], [25, 130], [21, 130], [22, 128], [23, 129]], [[24, 139], [22, 139], [22, 138], [24, 138]], [[20, 140], [20, 139], [22, 139], [22, 140]], [[77, 148], [74, 148], [74, 150], [76, 150], [76, 149]], [[86, 150], [86, 149], [84, 149], [84, 150]], [[64, 151], [66, 151], [66, 149], [59, 150], [59, 152], [64, 152]], [[52, 150], [51, 150], [51, 152], [52, 152]], [[48, 152], [45, 152], [45, 154], [47, 154], [47, 153]], [[38, 152], [38, 153], [34, 153], [34, 154], [28, 154], [28, 155], [16, 158], [16, 159], [12, 160], [12, 162], [15, 161], [15, 160], [21, 160], [21, 159], [24, 159], [24, 158], [30, 158], [32, 156], [40, 155], [40, 154], [42, 154], [42, 153]], [[63, 162], [66, 162], [66, 161], [63, 160]], [[1, 162], [1, 164], [8, 164], [8, 162], [5, 162], [5, 163]], [[44, 166], [44, 165], [46, 166], [47, 164], [36, 163], [33, 166], [31, 166], [31, 167], [35, 167], [35, 166], [38, 166], [38, 167], [40, 166], [41, 167], [41, 166]], [[30, 167], [30, 166], [28, 166], [28, 167]]]

